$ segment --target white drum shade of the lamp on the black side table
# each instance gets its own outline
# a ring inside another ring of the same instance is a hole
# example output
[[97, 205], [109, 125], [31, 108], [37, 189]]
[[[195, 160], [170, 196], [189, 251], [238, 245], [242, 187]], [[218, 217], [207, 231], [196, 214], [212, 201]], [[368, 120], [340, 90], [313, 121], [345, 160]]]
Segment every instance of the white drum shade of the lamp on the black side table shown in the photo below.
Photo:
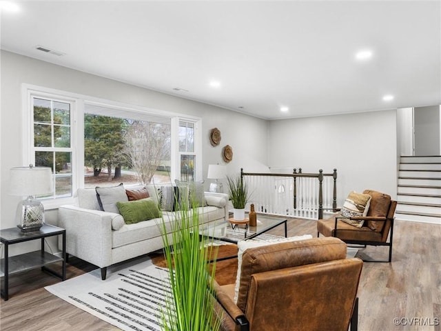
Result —
[[9, 193], [21, 197], [52, 193], [51, 168], [32, 165], [11, 168]]

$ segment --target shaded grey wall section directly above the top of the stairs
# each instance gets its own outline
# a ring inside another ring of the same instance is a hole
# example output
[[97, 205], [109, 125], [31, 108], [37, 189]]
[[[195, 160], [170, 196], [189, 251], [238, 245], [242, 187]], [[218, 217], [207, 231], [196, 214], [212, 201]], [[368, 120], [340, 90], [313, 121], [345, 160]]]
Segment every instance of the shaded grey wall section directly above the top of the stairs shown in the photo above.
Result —
[[440, 106], [414, 108], [416, 156], [441, 155], [440, 123]]

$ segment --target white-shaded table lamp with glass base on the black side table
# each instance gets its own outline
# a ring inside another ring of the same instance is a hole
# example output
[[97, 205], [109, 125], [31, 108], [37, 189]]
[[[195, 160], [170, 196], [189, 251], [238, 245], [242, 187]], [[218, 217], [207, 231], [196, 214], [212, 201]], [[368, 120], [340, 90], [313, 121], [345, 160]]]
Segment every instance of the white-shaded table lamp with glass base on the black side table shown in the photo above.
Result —
[[10, 194], [27, 196], [17, 206], [17, 227], [37, 231], [44, 225], [44, 206], [35, 195], [52, 193], [52, 170], [48, 167], [16, 167], [10, 170]]

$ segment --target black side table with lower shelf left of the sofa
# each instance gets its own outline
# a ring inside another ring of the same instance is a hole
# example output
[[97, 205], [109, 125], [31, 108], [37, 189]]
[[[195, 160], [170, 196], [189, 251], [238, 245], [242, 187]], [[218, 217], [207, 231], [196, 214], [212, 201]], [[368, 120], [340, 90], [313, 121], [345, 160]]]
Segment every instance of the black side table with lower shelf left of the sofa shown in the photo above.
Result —
[[[61, 234], [63, 236], [63, 251], [62, 257], [57, 257], [53, 254], [45, 252], [44, 250], [44, 239], [46, 237], [58, 236]], [[8, 248], [9, 245], [14, 243], [23, 243], [24, 241], [30, 241], [35, 239], [41, 239], [41, 250], [35, 252], [29, 252], [25, 254], [16, 255], [14, 257], [9, 257]], [[0, 260], [0, 277], [4, 277], [4, 287], [3, 291], [0, 290], [1, 297], [8, 300], [8, 286], [9, 286], [9, 276], [17, 272], [23, 272], [26, 270], [31, 270], [35, 268], [41, 268], [56, 277], [61, 278], [61, 280], [66, 279], [66, 230], [63, 228], [58, 228], [54, 225], [43, 225], [39, 231], [34, 232], [21, 232], [19, 228], [9, 228], [0, 230], [0, 241], [5, 245], [5, 258]], [[58, 261], [63, 261], [62, 272], [55, 272], [46, 267], [46, 265], [55, 263]]]

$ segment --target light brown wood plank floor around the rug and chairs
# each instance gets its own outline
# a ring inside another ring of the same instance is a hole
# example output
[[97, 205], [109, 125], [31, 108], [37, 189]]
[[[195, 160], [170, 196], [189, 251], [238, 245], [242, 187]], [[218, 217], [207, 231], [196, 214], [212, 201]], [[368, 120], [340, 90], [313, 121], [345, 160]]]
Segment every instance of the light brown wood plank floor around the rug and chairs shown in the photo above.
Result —
[[[279, 228], [271, 233], [283, 235]], [[363, 265], [358, 330], [441, 331], [441, 226], [397, 220], [394, 230], [392, 263]], [[291, 219], [288, 234], [316, 237], [316, 221]], [[387, 248], [368, 247], [362, 253], [387, 258]], [[94, 268], [72, 258], [67, 275]], [[119, 330], [44, 290], [58, 281], [40, 270], [11, 277], [10, 299], [0, 301], [0, 330]]]

